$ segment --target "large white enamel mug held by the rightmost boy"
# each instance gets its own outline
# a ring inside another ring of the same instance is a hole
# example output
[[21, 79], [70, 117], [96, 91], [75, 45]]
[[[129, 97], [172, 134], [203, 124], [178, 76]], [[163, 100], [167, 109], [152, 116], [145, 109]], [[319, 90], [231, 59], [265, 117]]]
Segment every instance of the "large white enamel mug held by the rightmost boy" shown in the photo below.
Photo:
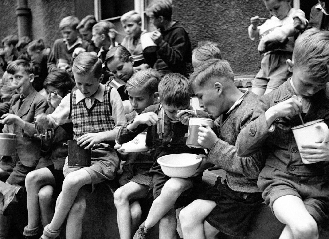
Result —
[[[329, 129], [328, 125], [323, 119], [313, 120], [307, 122], [304, 125], [298, 125], [291, 128], [293, 136], [295, 137], [298, 150], [301, 150], [301, 145], [314, 144], [315, 142], [322, 141], [326, 143], [329, 141]], [[304, 164], [312, 164], [315, 162], [310, 162], [303, 158], [300, 154]]]

